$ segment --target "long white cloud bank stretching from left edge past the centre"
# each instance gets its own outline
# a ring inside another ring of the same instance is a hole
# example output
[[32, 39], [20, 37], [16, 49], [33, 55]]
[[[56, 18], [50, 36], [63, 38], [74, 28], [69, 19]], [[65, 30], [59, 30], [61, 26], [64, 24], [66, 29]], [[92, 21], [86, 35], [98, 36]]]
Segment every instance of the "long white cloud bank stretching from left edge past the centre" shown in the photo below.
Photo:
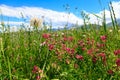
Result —
[[[59, 23], [71, 23], [76, 24], [78, 22], [79, 25], [83, 23], [82, 19], [75, 16], [73, 13], [69, 15], [65, 12], [57, 12], [49, 9], [43, 9], [38, 7], [11, 7], [7, 5], [0, 5], [0, 9], [3, 16], [22, 18], [21, 13], [27, 19], [31, 17], [42, 17], [44, 16], [45, 21], [52, 22], [52, 24]], [[59, 25], [58, 25], [59, 26]]]

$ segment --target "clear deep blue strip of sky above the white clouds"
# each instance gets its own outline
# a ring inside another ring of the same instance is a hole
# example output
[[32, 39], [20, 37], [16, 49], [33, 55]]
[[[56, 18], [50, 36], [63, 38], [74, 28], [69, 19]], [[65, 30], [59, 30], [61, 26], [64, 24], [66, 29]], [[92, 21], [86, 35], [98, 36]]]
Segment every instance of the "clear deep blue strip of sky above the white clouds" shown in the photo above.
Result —
[[75, 8], [86, 10], [88, 12], [99, 12], [102, 8], [107, 8], [110, 1], [119, 0], [0, 0], [0, 4], [5, 4], [13, 7], [31, 6], [52, 9], [55, 11], [65, 11], [63, 5], [68, 4], [70, 11], [75, 13]]

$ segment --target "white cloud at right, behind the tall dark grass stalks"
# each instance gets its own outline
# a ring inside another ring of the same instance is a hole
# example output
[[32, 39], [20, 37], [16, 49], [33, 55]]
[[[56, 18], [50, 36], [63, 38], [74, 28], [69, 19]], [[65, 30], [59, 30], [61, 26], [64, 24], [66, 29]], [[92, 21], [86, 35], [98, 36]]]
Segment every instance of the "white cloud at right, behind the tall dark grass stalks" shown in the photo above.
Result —
[[[112, 6], [113, 6], [113, 9], [114, 9], [114, 12], [115, 12], [115, 16], [117, 19], [120, 19], [120, 1], [118, 2], [115, 2], [113, 1], [112, 2]], [[105, 11], [105, 17], [106, 17], [106, 23], [110, 23], [111, 22], [111, 16], [110, 16], [110, 11], [109, 10], [104, 10]], [[103, 18], [103, 13], [104, 11], [100, 11], [99, 13], [95, 13], [95, 15]], [[94, 14], [91, 14], [89, 12], [86, 12], [86, 14], [89, 14], [89, 17], [90, 17], [90, 22], [91, 23], [98, 23], [98, 21], [100, 22], [100, 24], [102, 24], [102, 20], [101, 19], [98, 19]]]

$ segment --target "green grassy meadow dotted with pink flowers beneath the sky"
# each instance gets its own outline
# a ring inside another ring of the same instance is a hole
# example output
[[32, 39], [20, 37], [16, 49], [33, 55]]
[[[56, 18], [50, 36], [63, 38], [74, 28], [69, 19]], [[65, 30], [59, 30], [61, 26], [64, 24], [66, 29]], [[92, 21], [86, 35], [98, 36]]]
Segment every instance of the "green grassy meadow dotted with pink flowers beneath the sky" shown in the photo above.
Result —
[[[11, 32], [1, 24], [1, 80], [120, 80], [120, 29], [84, 24]], [[86, 19], [86, 18], [85, 18]], [[84, 20], [85, 20], [84, 19]], [[45, 25], [44, 25], [45, 26]]]

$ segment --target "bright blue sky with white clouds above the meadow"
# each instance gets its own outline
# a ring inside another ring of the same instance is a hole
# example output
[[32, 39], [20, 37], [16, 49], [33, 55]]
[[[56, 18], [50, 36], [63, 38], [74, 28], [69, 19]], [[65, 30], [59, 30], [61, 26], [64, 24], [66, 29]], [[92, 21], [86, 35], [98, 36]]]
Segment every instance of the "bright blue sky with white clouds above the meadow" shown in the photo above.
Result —
[[[108, 4], [112, 2], [116, 17], [120, 18], [120, 0], [0, 0], [0, 19], [11, 25], [19, 25], [23, 22], [21, 13], [29, 24], [31, 17], [45, 16], [45, 21], [52, 21], [53, 27], [63, 27], [66, 22], [82, 25], [81, 11], [89, 14], [91, 23], [97, 23], [96, 14], [102, 17], [106, 11], [106, 20], [109, 23], [110, 15]], [[67, 9], [66, 9], [67, 8]], [[67, 12], [70, 12], [69, 18]]]

